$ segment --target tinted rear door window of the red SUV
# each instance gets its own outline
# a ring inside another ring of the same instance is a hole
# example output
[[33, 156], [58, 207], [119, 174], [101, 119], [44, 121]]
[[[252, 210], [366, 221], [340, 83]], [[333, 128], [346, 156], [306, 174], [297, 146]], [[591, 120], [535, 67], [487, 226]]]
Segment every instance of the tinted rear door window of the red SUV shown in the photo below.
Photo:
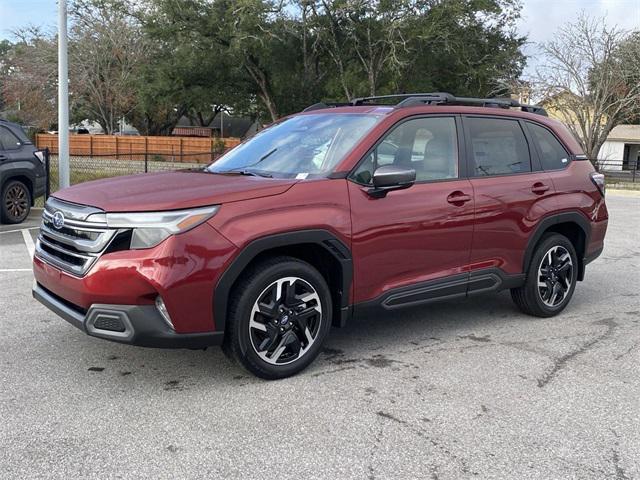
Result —
[[476, 177], [531, 171], [529, 145], [518, 121], [481, 117], [464, 121]]

